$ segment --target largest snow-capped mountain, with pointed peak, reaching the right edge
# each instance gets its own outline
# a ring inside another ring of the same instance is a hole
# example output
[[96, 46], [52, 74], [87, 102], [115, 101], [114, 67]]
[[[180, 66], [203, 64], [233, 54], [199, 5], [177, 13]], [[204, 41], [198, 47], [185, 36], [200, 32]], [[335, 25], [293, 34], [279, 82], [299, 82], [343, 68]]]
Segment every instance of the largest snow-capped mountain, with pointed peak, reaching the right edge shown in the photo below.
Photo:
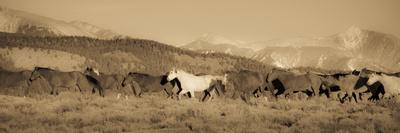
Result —
[[367, 67], [400, 71], [400, 39], [393, 35], [351, 27], [328, 37], [283, 42], [282, 45], [267, 44], [252, 58], [282, 68], [353, 70]]

